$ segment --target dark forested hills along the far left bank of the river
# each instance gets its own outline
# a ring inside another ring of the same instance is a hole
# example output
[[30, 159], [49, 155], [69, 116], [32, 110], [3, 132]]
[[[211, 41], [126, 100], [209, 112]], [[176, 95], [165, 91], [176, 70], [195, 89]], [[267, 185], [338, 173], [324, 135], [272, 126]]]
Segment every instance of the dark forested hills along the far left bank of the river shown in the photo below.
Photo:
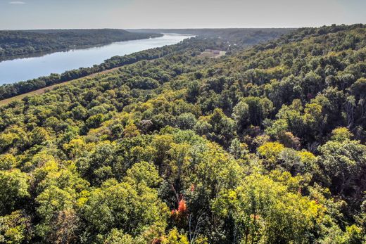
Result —
[[160, 33], [131, 33], [115, 29], [0, 30], [0, 59], [161, 36]]

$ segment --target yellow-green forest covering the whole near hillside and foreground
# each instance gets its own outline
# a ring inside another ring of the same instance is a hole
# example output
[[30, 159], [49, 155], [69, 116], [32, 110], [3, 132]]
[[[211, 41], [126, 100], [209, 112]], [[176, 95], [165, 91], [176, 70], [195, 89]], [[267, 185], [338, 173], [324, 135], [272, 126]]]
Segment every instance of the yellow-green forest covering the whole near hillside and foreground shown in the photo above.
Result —
[[366, 243], [366, 25], [184, 43], [0, 107], [0, 242]]

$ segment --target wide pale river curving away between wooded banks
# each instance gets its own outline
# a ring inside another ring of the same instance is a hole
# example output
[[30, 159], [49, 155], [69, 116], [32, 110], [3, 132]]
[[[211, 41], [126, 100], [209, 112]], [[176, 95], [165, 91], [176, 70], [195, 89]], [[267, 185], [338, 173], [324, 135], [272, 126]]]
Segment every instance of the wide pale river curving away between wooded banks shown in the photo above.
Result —
[[87, 68], [103, 63], [112, 56], [123, 56], [137, 51], [177, 44], [191, 36], [164, 34], [163, 37], [120, 41], [89, 49], [59, 51], [40, 57], [18, 58], [0, 62], [0, 85], [34, 79], [51, 73], [61, 74], [66, 70]]

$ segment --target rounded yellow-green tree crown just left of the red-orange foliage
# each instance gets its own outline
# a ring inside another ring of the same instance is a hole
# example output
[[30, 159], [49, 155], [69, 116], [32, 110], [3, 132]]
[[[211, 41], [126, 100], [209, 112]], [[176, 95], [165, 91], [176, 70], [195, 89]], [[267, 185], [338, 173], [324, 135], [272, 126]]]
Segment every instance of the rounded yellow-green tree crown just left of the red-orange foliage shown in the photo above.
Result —
[[118, 228], [132, 236], [153, 224], [165, 226], [168, 217], [168, 208], [158, 199], [156, 190], [144, 182], [132, 186], [114, 180], [90, 193], [83, 212], [92, 233]]

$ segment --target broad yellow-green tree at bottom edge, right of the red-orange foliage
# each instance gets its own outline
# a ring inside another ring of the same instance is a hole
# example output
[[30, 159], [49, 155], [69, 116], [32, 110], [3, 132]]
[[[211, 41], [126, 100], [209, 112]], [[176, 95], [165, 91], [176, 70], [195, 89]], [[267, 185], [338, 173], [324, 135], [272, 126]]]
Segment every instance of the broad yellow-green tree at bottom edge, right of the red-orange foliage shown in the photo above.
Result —
[[[291, 178], [289, 180], [291, 182]], [[233, 243], [309, 243], [323, 208], [268, 176], [251, 174], [234, 190], [222, 191], [215, 213], [234, 221]]]

